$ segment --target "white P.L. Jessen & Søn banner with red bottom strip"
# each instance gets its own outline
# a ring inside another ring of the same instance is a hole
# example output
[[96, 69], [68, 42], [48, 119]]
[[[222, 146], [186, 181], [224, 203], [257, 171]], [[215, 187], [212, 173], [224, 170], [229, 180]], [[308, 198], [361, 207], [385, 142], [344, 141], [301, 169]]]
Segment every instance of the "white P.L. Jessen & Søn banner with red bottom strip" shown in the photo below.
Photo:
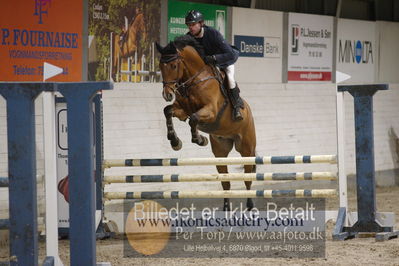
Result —
[[333, 18], [289, 13], [288, 82], [330, 82]]

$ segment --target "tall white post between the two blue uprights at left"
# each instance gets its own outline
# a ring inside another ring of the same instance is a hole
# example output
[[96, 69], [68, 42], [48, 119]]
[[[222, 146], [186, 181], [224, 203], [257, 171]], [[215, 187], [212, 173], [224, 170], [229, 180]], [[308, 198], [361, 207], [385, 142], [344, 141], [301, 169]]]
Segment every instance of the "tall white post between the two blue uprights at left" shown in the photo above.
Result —
[[44, 176], [46, 189], [46, 254], [55, 265], [58, 256], [57, 161], [54, 92], [43, 92]]

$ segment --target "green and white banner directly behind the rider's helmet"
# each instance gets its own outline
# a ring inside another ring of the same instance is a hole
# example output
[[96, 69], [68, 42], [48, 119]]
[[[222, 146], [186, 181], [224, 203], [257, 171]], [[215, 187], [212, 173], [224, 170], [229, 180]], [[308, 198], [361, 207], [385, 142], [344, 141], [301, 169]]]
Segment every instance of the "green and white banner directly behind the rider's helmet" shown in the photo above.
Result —
[[226, 6], [169, 0], [168, 42], [173, 41], [177, 36], [187, 33], [188, 30], [185, 24], [185, 17], [187, 12], [193, 9], [200, 11], [204, 15], [205, 25], [217, 29], [223, 37], [226, 38]]

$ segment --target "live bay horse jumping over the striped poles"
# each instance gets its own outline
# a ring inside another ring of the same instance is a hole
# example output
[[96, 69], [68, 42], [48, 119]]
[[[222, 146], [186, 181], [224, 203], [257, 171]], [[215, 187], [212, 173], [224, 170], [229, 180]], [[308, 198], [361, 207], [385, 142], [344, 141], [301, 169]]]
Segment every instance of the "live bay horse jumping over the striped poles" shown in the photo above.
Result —
[[[182, 147], [173, 127], [172, 117], [181, 121], [189, 119], [191, 141], [200, 146], [208, 139], [198, 130], [208, 133], [215, 157], [227, 157], [233, 146], [243, 157], [255, 156], [255, 124], [248, 103], [244, 102], [243, 120], [232, 120], [232, 106], [227, 97], [227, 80], [223, 82], [214, 66], [204, 63], [202, 46], [189, 35], [177, 37], [174, 42], [162, 47], [160, 70], [163, 78], [162, 96], [166, 101], [175, 101], [164, 108], [167, 138], [174, 150]], [[227, 173], [226, 165], [216, 166], [219, 173]], [[245, 165], [245, 173], [254, 173], [255, 165]], [[245, 181], [247, 190], [251, 181]], [[230, 182], [222, 182], [223, 190], [230, 190]], [[247, 199], [247, 208], [253, 208], [252, 199]], [[223, 210], [230, 210], [229, 199], [224, 199]]]

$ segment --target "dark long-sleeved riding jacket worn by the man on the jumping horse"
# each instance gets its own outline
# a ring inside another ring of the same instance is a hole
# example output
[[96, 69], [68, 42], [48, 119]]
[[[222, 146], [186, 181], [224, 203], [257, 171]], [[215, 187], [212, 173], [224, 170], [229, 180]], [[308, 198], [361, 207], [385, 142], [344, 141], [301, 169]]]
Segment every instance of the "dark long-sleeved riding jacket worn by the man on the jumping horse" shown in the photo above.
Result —
[[[205, 55], [214, 55], [216, 57], [216, 65], [221, 68], [234, 64], [238, 59], [238, 50], [228, 44], [222, 34], [216, 29], [205, 25], [203, 28], [204, 36], [195, 39], [204, 47]], [[190, 32], [187, 34], [191, 35]]]

